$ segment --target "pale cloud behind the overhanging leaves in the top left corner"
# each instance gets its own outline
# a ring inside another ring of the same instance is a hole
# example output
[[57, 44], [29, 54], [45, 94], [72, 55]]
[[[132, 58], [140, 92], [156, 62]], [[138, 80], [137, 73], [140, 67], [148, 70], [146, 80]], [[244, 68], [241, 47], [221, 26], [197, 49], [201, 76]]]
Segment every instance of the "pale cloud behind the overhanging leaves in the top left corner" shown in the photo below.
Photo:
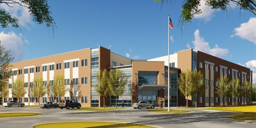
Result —
[[[17, 0], [16, 0], [17, 1]], [[19, 2], [19, 1], [18, 1]], [[0, 8], [8, 11], [12, 16], [15, 16], [19, 19], [21, 26], [29, 29], [28, 25], [32, 24], [31, 15], [28, 12], [29, 9], [22, 7], [18, 4], [10, 4], [12, 7], [8, 7], [6, 4], [0, 4]]]

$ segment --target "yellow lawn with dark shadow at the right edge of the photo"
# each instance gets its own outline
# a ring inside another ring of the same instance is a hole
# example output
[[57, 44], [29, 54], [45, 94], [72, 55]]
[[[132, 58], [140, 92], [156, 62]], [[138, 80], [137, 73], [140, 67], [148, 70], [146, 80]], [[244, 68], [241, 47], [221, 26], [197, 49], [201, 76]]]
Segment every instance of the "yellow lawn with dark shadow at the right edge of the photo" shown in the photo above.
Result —
[[207, 109], [236, 111], [236, 112], [243, 113], [237, 116], [228, 117], [229, 119], [256, 120], [256, 106], [213, 107], [213, 108], [207, 108]]

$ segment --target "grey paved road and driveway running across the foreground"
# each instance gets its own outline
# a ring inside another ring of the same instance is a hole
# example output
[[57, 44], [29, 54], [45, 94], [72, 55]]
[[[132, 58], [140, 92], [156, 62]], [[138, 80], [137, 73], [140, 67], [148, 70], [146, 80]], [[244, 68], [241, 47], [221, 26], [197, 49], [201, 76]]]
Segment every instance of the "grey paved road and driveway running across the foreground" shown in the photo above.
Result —
[[[175, 109], [175, 108], [173, 108]], [[177, 110], [182, 110], [178, 108]], [[32, 128], [34, 125], [71, 121], [106, 121], [135, 123], [158, 128], [256, 128], [255, 122], [234, 121], [228, 116], [238, 112], [189, 109], [189, 113], [163, 114], [147, 109], [117, 109], [114, 111], [72, 111], [67, 109], [42, 109], [40, 107], [3, 107], [0, 113], [36, 112], [42, 115], [0, 118], [0, 128]]]

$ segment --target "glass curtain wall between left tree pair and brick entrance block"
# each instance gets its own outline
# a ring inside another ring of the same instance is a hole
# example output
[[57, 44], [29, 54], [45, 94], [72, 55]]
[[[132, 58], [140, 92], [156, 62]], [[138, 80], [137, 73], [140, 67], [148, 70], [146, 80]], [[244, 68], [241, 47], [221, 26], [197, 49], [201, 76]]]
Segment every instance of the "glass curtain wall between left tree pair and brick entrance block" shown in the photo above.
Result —
[[[125, 107], [131, 107], [131, 67], [130, 68], [122, 68], [119, 69], [125, 74], [125, 77], [128, 80], [126, 87], [126, 91], [122, 96], [118, 96], [117, 106], [122, 106], [122, 100], [125, 100]], [[116, 97], [110, 97], [110, 106], [116, 106]]]

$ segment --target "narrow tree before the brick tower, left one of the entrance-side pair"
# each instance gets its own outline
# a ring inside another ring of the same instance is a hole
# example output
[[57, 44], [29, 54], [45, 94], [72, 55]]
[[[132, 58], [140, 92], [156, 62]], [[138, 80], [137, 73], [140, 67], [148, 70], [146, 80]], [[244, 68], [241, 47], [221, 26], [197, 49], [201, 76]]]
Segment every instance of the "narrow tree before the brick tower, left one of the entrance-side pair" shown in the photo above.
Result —
[[105, 97], [109, 96], [109, 89], [107, 85], [107, 81], [109, 80], [109, 73], [107, 69], [100, 71], [97, 74], [98, 84], [96, 86], [96, 91], [99, 96], [103, 97], [103, 106], [105, 108]]

